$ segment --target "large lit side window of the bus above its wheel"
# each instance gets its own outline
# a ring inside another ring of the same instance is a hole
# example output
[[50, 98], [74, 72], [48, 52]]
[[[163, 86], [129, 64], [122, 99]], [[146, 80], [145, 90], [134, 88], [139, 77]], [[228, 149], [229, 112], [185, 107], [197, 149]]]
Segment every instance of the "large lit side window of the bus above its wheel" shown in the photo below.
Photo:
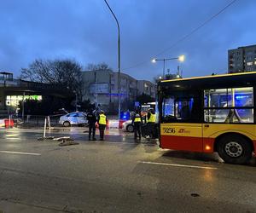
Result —
[[207, 123], [253, 123], [253, 87], [208, 89], [204, 119]]

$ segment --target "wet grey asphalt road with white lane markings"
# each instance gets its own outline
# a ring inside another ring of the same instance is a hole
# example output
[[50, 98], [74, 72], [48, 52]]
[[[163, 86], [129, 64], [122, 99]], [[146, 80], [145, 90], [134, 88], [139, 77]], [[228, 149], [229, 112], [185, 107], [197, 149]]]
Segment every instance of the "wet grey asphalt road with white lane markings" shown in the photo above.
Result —
[[[37, 141], [43, 130], [0, 130], [0, 212], [256, 212], [256, 163], [162, 150], [110, 130], [51, 130], [79, 145]], [[98, 137], [98, 136], [97, 136]]]

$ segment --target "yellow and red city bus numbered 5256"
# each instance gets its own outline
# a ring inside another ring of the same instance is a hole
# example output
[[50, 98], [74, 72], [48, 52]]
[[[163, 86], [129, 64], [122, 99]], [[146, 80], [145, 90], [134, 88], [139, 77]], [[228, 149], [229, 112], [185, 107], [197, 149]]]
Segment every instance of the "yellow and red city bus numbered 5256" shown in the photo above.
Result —
[[179, 78], [158, 83], [160, 147], [218, 152], [246, 164], [256, 150], [256, 72]]

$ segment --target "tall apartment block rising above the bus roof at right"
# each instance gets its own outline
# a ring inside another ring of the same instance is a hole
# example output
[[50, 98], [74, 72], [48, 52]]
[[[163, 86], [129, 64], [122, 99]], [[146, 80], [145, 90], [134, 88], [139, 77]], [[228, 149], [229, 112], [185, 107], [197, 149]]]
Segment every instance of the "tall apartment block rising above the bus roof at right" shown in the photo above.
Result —
[[256, 45], [228, 50], [229, 73], [256, 71]]

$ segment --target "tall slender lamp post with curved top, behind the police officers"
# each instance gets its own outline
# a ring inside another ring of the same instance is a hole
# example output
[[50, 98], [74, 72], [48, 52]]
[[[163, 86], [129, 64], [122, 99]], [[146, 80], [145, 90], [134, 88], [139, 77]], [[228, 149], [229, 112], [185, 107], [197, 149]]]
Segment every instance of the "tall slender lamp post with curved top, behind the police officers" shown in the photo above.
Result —
[[120, 118], [120, 112], [121, 112], [121, 97], [120, 97], [120, 64], [121, 64], [121, 60], [120, 60], [120, 27], [119, 27], [119, 21], [117, 20], [115, 14], [113, 13], [113, 10], [110, 8], [107, 0], [104, 0], [105, 3], [108, 6], [108, 9], [110, 10], [111, 14], [113, 14], [113, 18], [116, 21], [117, 27], [118, 27], [118, 66], [119, 66], [119, 83], [118, 83], [118, 90], [119, 90], [119, 118]]

